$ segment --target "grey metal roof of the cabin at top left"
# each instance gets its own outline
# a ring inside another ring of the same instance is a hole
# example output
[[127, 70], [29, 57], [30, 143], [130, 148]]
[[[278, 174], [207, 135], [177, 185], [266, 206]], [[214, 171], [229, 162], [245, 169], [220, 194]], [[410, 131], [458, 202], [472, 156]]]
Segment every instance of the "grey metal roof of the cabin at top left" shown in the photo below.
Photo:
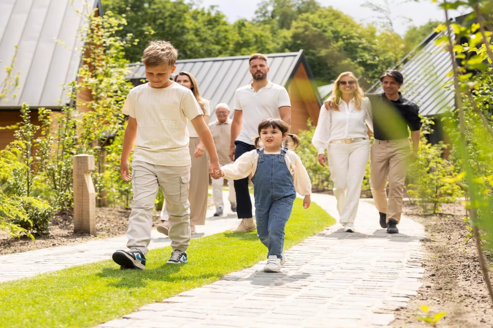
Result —
[[[2, 102], [0, 109], [24, 102], [34, 108], [59, 108], [67, 101], [63, 85], [77, 76], [77, 49], [82, 46], [77, 34], [85, 24], [77, 11], [86, 13], [88, 1], [103, 12], [100, 0], [0, 0], [1, 66], [10, 65], [18, 45], [14, 74], [20, 71], [17, 97]], [[5, 69], [0, 69], [0, 84], [5, 77]]]

